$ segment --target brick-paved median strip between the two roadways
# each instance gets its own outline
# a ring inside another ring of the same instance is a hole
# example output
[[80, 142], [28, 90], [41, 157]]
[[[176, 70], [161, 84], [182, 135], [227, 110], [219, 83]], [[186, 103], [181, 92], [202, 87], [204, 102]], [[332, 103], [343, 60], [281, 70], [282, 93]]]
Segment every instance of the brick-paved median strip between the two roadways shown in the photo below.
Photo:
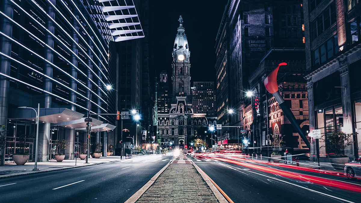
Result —
[[[177, 161], [179, 162], [179, 161]], [[170, 164], [137, 203], [218, 203], [192, 164]]]

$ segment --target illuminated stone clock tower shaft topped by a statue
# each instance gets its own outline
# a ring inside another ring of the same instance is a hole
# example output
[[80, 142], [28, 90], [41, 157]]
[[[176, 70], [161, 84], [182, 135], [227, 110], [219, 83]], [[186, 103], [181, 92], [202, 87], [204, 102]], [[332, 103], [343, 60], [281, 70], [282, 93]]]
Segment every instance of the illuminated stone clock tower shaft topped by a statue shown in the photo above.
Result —
[[187, 36], [182, 26], [182, 16], [179, 16], [178, 34], [175, 36], [173, 45], [173, 102], [177, 102], [177, 96], [185, 96], [186, 102], [191, 103], [191, 73], [190, 55]]

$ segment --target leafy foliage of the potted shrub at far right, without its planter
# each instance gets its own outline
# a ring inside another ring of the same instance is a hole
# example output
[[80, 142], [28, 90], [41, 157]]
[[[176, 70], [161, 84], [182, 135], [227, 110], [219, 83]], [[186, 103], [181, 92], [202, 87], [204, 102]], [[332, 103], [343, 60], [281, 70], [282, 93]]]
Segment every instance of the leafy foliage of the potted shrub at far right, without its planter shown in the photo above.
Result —
[[[341, 152], [345, 147], [351, 145], [353, 142], [350, 141], [350, 138], [356, 136], [357, 133], [344, 133], [342, 131], [335, 132], [332, 131], [330, 134], [326, 134], [326, 140], [321, 138], [321, 142], [326, 143], [328, 153], [334, 153], [335, 156], [343, 155]], [[320, 148], [325, 147], [321, 146]]]

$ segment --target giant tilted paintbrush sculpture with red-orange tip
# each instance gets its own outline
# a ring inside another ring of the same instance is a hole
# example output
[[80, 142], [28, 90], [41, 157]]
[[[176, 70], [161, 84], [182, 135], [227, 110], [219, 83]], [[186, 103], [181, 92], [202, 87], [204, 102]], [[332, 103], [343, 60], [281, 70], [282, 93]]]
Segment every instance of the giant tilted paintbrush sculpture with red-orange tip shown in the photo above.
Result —
[[279, 107], [281, 107], [283, 114], [288, 118], [288, 120], [291, 122], [293, 128], [296, 129], [297, 133], [301, 136], [303, 141], [306, 143], [307, 147], [310, 149], [310, 143], [308, 142], [308, 139], [306, 138], [305, 134], [301, 130], [300, 125], [297, 123], [297, 120], [295, 116], [293, 115], [291, 109], [287, 106], [287, 104], [284, 102], [283, 97], [279, 94], [278, 91], [278, 84], [277, 84], [277, 72], [279, 69], [279, 66], [281, 65], [287, 65], [287, 63], [280, 63], [278, 64], [277, 68], [274, 69], [265, 79], [265, 87], [267, 91], [269, 91], [276, 101], [279, 104]]

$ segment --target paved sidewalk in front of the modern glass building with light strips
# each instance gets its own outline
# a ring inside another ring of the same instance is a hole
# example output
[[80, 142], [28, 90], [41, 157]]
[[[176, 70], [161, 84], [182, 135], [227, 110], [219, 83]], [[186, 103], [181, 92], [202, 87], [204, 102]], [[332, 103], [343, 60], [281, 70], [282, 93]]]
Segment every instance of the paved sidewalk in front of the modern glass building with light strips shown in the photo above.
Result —
[[106, 156], [100, 157], [99, 159], [90, 158], [88, 159], [89, 164], [84, 164], [85, 160], [77, 159], [77, 165], [75, 166], [74, 160], [63, 160], [62, 162], [57, 162], [56, 160], [51, 160], [48, 162], [38, 162], [39, 171], [32, 171], [35, 166], [35, 162], [27, 162], [25, 165], [18, 166], [15, 163], [5, 163], [5, 165], [0, 166], [0, 179], [9, 178], [15, 176], [23, 176], [32, 173], [42, 173], [49, 172], [54, 170], [64, 170], [69, 168], [85, 167], [89, 165], [103, 164], [113, 161], [120, 160], [120, 156]]

